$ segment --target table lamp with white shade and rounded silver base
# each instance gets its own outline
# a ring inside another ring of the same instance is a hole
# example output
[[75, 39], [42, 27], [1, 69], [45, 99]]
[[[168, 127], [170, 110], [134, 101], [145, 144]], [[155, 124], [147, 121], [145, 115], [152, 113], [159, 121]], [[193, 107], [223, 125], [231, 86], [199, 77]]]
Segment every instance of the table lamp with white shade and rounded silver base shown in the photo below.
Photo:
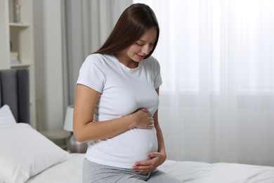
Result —
[[[73, 132], [73, 111], [74, 106], [67, 106], [67, 112], [65, 113], [64, 130], [69, 132]], [[70, 153], [86, 153], [87, 148], [87, 142], [77, 141], [72, 133], [68, 143], [68, 149]]]

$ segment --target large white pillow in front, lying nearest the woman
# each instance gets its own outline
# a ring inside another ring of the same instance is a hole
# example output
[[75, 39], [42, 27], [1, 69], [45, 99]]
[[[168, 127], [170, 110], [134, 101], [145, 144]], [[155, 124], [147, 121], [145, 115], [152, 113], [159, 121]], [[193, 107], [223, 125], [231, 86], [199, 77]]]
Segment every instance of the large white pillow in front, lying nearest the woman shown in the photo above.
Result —
[[68, 158], [70, 153], [26, 123], [0, 128], [0, 177], [4, 182], [26, 182]]

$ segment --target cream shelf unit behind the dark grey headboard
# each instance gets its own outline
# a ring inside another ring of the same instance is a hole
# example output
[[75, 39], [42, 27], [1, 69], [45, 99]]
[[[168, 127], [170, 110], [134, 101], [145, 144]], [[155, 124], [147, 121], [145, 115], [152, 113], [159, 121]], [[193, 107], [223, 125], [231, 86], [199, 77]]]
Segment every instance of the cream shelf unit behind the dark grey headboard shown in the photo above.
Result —
[[[20, 5], [20, 18], [16, 14], [17, 4]], [[30, 70], [30, 123], [36, 127], [32, 4], [32, 0], [0, 1], [0, 69]], [[13, 61], [18, 60], [18, 63], [11, 63], [11, 53]], [[16, 57], [18, 59], [14, 59]]]

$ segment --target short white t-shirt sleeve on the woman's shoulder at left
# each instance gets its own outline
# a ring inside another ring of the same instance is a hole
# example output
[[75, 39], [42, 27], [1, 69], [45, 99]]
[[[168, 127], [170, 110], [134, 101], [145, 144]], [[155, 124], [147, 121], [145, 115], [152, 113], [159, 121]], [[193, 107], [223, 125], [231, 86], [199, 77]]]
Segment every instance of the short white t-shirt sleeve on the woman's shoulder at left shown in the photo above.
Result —
[[102, 92], [105, 84], [105, 65], [100, 54], [86, 57], [79, 70], [77, 84], [84, 84], [97, 92]]

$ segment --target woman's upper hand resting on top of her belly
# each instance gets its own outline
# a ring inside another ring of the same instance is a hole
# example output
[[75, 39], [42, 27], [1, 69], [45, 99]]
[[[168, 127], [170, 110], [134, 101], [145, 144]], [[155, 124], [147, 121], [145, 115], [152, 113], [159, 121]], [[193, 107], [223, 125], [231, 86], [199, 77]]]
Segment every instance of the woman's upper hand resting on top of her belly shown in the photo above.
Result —
[[134, 113], [132, 113], [135, 118], [135, 127], [137, 128], [152, 128], [154, 127], [154, 119], [150, 112], [146, 108], [140, 108]]

